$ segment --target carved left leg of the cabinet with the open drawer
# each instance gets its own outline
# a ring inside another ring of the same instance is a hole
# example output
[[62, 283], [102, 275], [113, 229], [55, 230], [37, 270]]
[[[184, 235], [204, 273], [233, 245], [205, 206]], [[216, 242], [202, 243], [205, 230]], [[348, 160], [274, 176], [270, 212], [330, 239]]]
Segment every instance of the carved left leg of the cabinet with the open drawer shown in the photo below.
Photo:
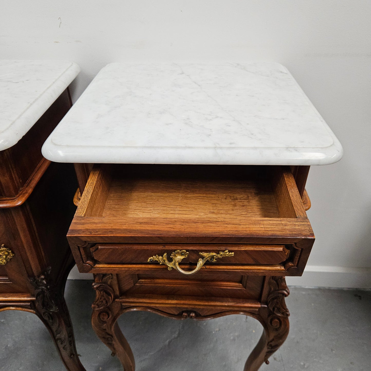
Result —
[[112, 274], [95, 274], [93, 289], [96, 298], [92, 305], [92, 327], [99, 339], [107, 345], [121, 361], [125, 371], [134, 371], [135, 362], [130, 346], [117, 324], [121, 314], [119, 302], [114, 301], [114, 290], [111, 287]]

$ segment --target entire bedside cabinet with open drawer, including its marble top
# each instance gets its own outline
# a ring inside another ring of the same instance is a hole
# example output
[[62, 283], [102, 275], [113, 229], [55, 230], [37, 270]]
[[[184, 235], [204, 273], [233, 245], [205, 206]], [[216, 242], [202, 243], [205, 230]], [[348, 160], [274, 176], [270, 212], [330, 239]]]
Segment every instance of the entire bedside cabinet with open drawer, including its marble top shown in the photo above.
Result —
[[94, 274], [93, 329], [125, 371], [116, 321], [139, 310], [252, 316], [264, 332], [244, 370], [268, 363], [289, 331], [285, 276], [302, 274], [314, 242], [309, 166], [342, 155], [283, 66], [113, 63], [43, 153], [75, 163], [68, 240]]

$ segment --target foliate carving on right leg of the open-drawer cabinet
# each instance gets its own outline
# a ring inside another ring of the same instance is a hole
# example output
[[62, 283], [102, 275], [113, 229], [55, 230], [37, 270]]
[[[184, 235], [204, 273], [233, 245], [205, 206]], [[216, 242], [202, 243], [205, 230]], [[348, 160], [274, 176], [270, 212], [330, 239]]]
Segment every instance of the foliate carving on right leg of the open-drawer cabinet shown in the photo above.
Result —
[[269, 364], [268, 358], [282, 345], [288, 335], [288, 317], [290, 315], [285, 303], [285, 298], [290, 293], [286, 286], [285, 277], [270, 277], [268, 284], [270, 291], [267, 298], [267, 306], [270, 315], [267, 319], [267, 326], [271, 336], [267, 343], [267, 351], [264, 357], [266, 364]]

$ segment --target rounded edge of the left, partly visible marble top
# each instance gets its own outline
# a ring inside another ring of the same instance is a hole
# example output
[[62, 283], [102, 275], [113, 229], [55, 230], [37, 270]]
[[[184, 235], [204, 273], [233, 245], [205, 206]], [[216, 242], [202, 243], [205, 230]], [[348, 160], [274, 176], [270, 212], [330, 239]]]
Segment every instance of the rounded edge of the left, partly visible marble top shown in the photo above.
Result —
[[12, 123], [11, 127], [1, 133], [0, 151], [7, 150], [17, 144], [76, 78], [80, 72], [80, 67], [76, 63], [70, 63], [70, 66], [38, 96], [36, 101]]

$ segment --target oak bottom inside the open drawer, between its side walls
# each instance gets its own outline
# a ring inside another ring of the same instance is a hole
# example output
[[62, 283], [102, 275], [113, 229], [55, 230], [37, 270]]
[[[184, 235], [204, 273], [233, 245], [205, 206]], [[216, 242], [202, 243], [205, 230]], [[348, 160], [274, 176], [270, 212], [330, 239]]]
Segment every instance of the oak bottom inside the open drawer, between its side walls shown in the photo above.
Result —
[[217, 219], [278, 217], [272, 186], [257, 167], [131, 165], [114, 169], [102, 216]]

